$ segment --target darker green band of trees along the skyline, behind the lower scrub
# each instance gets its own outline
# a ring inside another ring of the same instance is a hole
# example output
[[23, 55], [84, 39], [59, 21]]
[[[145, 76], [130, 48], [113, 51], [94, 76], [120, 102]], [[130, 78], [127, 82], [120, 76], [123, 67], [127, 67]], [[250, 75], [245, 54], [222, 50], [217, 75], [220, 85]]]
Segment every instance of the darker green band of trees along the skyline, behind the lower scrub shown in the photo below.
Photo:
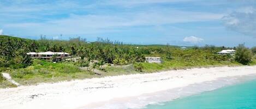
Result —
[[[67, 52], [72, 57], [81, 57], [78, 65], [83, 66], [93, 60], [102, 63], [114, 63], [115, 65], [127, 65], [129, 63], [144, 62], [145, 56], [162, 56], [166, 60], [183, 58], [187, 60], [230, 60], [230, 56], [218, 56], [216, 52], [222, 49], [236, 49], [226, 47], [188, 47], [181, 50], [179, 47], [165, 45], [132, 45], [118, 41], [98, 38], [96, 42], [87, 43], [81, 37], [69, 40], [49, 40], [41, 37], [40, 40], [21, 39], [0, 35], [0, 67], [20, 68], [32, 64], [32, 60], [26, 55], [28, 52]], [[255, 53], [256, 48], [252, 48]], [[86, 65], [85, 65], [86, 66]]]

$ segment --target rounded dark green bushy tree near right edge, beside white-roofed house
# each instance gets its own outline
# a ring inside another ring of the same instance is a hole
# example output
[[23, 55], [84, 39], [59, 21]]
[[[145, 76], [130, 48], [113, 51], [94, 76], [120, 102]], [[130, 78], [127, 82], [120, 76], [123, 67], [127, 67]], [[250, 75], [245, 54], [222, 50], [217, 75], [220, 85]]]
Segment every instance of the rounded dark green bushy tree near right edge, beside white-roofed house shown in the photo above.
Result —
[[252, 51], [245, 47], [245, 44], [239, 44], [236, 48], [235, 60], [242, 63], [243, 65], [248, 65], [252, 61]]

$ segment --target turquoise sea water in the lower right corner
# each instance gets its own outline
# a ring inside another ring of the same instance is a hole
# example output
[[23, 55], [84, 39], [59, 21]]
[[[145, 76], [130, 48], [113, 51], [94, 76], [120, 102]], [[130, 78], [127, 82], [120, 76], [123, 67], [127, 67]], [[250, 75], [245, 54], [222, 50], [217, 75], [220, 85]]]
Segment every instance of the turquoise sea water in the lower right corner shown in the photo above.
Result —
[[256, 80], [190, 97], [148, 105], [145, 109], [256, 109]]

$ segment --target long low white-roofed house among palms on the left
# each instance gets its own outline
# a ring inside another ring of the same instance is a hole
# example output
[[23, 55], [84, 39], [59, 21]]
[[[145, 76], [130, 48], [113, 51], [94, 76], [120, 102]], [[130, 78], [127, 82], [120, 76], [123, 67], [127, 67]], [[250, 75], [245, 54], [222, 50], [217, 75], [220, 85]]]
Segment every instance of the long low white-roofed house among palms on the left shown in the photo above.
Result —
[[27, 55], [31, 56], [32, 58], [37, 59], [45, 59], [45, 60], [51, 60], [53, 55], [56, 56], [56, 60], [60, 61], [62, 58], [69, 57], [68, 53], [65, 52], [29, 52]]

